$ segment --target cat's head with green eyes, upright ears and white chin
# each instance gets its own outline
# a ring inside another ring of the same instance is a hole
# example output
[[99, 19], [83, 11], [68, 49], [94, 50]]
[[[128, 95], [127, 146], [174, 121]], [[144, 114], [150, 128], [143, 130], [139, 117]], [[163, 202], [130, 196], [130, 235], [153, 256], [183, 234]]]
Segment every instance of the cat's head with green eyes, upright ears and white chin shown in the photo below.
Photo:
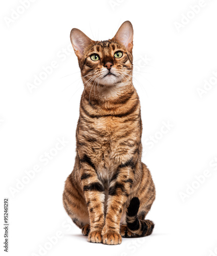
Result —
[[78, 57], [84, 86], [114, 86], [132, 80], [133, 26], [124, 22], [116, 35], [106, 41], [94, 41], [79, 29], [72, 29], [72, 46]]

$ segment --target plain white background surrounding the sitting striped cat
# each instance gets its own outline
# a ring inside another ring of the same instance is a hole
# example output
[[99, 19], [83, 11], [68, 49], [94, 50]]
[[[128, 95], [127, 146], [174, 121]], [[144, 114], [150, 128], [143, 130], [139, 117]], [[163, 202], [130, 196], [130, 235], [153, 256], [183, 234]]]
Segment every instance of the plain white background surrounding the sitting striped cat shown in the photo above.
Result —
[[[16, 17], [13, 10], [20, 8], [19, 0], [1, 1], [1, 253], [3, 198], [9, 198], [9, 255], [215, 255], [217, 81], [212, 72], [217, 72], [217, 3], [206, 0], [200, 10], [194, 8], [197, 14], [189, 12], [199, 3], [36, 0], [24, 11], [18, 9], [23, 13]], [[178, 31], [175, 23], [181, 23], [182, 14], [194, 17], [189, 22], [183, 18], [185, 25]], [[11, 16], [16, 19], [11, 21]], [[150, 237], [106, 246], [88, 243], [62, 206], [64, 181], [74, 166], [83, 88], [77, 58], [72, 48], [65, 48], [74, 27], [105, 40], [125, 20], [134, 27], [143, 161], [157, 189], [147, 217], [156, 227]], [[30, 92], [27, 84], [53, 61], [56, 68]], [[200, 97], [197, 90], [209, 79], [213, 87]], [[163, 122], [172, 126], [165, 134]], [[157, 141], [151, 144], [150, 136]], [[55, 153], [58, 138], [68, 143], [45, 162], [45, 152]], [[35, 165], [40, 172], [31, 180], [24, 178], [25, 171], [33, 176]], [[196, 176], [205, 170], [209, 177], [200, 184]], [[22, 179], [27, 184], [17, 189]], [[196, 189], [186, 192], [192, 183]], [[15, 194], [12, 189], [17, 189]], [[48, 238], [56, 233], [61, 238], [53, 238], [51, 245]]]

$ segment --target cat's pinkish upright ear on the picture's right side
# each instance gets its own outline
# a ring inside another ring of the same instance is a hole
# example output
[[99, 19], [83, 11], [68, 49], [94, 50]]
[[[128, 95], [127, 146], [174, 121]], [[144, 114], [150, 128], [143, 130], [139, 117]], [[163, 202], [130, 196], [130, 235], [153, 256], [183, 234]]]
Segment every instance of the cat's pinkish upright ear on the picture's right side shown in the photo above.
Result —
[[121, 42], [121, 44], [123, 44], [129, 52], [132, 52], [133, 37], [134, 37], [133, 26], [131, 22], [127, 20], [120, 26], [118, 32], [113, 37], [113, 39]]

